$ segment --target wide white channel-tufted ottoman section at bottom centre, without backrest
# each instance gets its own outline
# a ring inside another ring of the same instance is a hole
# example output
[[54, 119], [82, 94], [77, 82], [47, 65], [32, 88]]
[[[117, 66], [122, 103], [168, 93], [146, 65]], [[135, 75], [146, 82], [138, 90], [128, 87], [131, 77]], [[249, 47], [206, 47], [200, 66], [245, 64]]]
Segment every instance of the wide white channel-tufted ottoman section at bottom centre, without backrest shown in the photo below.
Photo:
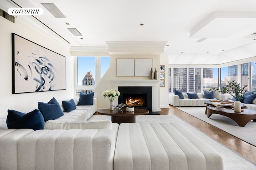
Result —
[[177, 123], [121, 123], [115, 170], [222, 170], [221, 156]]

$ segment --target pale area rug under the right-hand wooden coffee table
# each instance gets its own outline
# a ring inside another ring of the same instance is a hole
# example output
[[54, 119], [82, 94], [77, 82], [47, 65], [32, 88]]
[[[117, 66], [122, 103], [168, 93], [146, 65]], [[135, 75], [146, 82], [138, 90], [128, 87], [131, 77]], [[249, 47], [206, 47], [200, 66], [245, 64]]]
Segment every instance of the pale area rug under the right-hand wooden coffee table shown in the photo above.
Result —
[[250, 121], [244, 127], [238, 126], [238, 124], [229, 117], [212, 114], [210, 118], [205, 115], [205, 107], [176, 107], [186, 113], [201, 119], [227, 133], [246, 141], [256, 146], [256, 122]]

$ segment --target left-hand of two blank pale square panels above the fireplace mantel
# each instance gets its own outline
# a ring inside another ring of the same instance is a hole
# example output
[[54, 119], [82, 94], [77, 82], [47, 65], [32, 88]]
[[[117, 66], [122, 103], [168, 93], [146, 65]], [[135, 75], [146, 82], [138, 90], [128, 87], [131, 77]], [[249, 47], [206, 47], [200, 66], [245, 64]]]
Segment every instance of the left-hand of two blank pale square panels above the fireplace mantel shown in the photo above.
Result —
[[134, 59], [116, 59], [116, 76], [134, 76]]

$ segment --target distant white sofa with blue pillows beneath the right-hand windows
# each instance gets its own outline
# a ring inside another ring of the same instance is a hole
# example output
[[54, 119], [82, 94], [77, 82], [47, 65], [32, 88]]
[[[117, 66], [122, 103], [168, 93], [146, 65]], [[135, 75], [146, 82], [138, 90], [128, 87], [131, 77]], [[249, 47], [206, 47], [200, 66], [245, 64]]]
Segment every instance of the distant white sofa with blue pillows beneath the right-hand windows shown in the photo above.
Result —
[[[184, 106], [206, 106], [204, 104], [205, 101], [213, 100], [204, 98], [203, 93], [196, 93], [199, 97], [199, 99], [189, 99], [188, 95], [186, 93], [183, 93], [184, 99], [180, 99], [178, 95], [175, 95], [174, 93], [169, 94], [169, 104], [174, 107], [184, 107]], [[230, 94], [224, 94], [225, 98], [232, 98]]]

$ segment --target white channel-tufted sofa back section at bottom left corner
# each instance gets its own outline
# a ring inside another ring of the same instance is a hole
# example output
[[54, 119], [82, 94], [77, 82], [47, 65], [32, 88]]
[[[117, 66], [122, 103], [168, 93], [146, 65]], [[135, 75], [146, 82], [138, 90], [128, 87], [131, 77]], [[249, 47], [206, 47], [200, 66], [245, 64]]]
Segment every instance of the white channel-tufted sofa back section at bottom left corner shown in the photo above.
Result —
[[1, 170], [113, 170], [111, 129], [0, 129]]

